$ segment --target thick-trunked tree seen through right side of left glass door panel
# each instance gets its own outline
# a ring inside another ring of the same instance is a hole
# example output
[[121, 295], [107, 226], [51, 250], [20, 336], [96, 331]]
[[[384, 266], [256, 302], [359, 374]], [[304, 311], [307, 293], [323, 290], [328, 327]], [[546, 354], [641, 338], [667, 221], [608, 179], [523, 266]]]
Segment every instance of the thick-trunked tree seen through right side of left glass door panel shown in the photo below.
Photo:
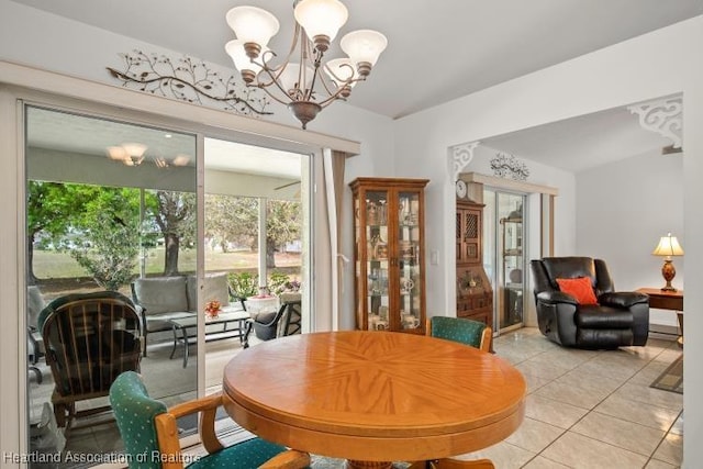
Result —
[[159, 190], [150, 212], [164, 235], [164, 275], [177, 276], [181, 242], [193, 245], [196, 239], [196, 194]]

